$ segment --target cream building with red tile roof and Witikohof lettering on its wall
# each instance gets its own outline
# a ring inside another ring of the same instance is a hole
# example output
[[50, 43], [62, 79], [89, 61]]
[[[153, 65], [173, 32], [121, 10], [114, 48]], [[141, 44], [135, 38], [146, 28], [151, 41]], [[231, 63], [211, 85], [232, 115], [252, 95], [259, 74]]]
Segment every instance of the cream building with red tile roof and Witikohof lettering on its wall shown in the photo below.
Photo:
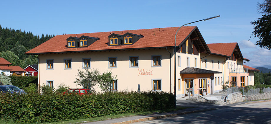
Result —
[[[112, 90], [137, 90], [139, 84], [141, 91], [156, 87], [156, 91], [173, 93], [174, 35], [178, 28], [57, 35], [27, 54], [39, 57], [39, 85], [57, 88], [64, 83], [82, 88], [74, 83], [78, 69], [98, 69], [101, 73], [108, 69], [117, 75]], [[209, 49], [196, 26], [182, 27], [176, 45], [177, 96], [198, 95], [203, 90], [217, 92], [222, 81], [232, 76], [227, 63], [242, 70], [237, 62], [247, 60], [239, 56], [230, 61], [227, 58], [231, 56]], [[96, 87], [96, 91], [100, 89]]]

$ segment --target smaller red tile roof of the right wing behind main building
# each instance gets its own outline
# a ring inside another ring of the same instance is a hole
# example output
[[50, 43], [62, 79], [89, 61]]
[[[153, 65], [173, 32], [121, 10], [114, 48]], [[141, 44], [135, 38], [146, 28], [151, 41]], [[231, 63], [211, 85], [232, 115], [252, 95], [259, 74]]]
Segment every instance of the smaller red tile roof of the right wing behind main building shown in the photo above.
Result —
[[209, 43], [207, 44], [211, 53], [220, 54], [224, 56], [232, 56], [237, 43]]

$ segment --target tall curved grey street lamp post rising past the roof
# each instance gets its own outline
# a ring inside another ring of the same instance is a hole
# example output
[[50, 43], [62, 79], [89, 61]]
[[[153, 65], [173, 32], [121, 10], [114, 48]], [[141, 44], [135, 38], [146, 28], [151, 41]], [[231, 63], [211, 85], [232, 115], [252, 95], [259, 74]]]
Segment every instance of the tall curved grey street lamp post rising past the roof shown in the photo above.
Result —
[[[220, 17], [220, 15], [210, 17], [210, 18], [206, 18], [206, 19], [202, 19], [202, 20], [198, 20], [198, 21], [195, 21], [195, 22], [207, 21], [209, 19], [213, 19], [213, 18], [217, 18], [217, 17]], [[195, 22], [190, 22], [190, 23], [187, 23], [187, 24], [184, 24], [184, 25], [188, 25], [188, 24], [195, 23]], [[184, 25], [182, 25], [181, 27], [183, 27]], [[175, 43], [174, 43], [174, 97], [175, 97], [175, 108], [176, 108], [176, 36], [177, 36], [177, 33], [178, 33], [178, 31], [180, 30], [181, 27], [179, 27], [179, 29], [177, 30], [177, 32], [175, 34]]]

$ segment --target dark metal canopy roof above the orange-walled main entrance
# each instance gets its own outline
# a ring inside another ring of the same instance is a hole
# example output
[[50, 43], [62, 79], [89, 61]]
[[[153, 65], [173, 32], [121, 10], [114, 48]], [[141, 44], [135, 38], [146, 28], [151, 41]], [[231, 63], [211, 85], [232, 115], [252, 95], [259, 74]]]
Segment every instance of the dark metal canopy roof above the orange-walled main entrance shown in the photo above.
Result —
[[200, 68], [184, 68], [184, 70], [180, 71], [180, 74], [219, 74], [222, 72], [212, 71]]

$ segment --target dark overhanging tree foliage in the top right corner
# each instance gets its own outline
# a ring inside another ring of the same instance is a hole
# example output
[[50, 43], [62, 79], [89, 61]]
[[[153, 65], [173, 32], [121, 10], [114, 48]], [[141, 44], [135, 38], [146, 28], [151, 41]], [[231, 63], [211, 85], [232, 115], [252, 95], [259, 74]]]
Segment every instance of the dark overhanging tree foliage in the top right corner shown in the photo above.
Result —
[[271, 0], [264, 0], [263, 3], [258, 2], [258, 12], [262, 14], [261, 18], [251, 22], [253, 25], [252, 36], [258, 37], [256, 45], [261, 48], [271, 49]]

